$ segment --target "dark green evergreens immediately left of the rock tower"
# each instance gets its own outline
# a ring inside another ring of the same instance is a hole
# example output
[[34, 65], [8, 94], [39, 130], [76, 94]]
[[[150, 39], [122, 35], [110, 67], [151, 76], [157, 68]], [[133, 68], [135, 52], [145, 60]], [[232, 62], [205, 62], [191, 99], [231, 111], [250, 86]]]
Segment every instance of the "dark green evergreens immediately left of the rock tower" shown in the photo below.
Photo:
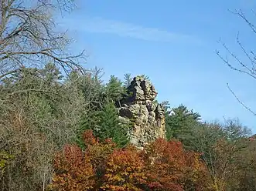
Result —
[[93, 129], [94, 135], [99, 139], [111, 138], [118, 146], [125, 146], [128, 143], [129, 124], [118, 119], [115, 103], [118, 102], [119, 104], [119, 100], [125, 95], [126, 89], [118, 78], [111, 75], [111, 79], [105, 86], [97, 85], [97, 90], [98, 92], [92, 100], [93, 106], [90, 107], [90, 112], [84, 115], [80, 121], [77, 142], [84, 148], [80, 134], [86, 129]]

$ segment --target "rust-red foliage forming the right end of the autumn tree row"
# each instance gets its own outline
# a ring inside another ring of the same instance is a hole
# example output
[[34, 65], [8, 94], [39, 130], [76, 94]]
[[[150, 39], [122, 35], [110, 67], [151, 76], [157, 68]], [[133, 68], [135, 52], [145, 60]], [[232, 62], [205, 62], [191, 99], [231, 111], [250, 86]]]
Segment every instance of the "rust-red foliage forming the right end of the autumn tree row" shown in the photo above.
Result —
[[205, 189], [207, 170], [200, 160], [200, 154], [186, 152], [181, 142], [157, 139], [146, 149], [147, 182], [152, 190], [194, 190]]

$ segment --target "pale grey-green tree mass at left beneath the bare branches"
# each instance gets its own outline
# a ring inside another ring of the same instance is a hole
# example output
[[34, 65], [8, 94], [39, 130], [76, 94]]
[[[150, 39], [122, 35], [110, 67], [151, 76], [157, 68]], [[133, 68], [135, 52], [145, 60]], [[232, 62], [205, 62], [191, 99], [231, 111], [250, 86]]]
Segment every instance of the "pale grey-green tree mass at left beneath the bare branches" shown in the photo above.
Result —
[[51, 63], [19, 69], [2, 80], [0, 92], [0, 146], [13, 156], [0, 187], [39, 190], [49, 183], [53, 153], [75, 139], [87, 104]]

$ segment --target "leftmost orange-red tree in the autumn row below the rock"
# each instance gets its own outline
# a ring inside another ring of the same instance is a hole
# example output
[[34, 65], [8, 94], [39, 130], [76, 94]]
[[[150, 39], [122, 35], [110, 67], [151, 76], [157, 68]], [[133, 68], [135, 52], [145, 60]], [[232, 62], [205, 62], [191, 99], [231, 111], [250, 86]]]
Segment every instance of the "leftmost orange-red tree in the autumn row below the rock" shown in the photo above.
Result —
[[94, 187], [93, 166], [78, 146], [64, 146], [63, 152], [56, 154], [54, 169], [52, 190], [81, 191]]

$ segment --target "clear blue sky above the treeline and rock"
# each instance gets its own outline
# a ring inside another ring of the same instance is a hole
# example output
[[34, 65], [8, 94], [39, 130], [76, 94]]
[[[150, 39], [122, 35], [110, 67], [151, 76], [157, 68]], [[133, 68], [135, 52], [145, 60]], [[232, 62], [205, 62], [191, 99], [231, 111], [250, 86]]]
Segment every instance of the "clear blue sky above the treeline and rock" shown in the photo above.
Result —
[[59, 26], [75, 40], [70, 51], [85, 49], [85, 66], [103, 68], [104, 79], [146, 74], [159, 101], [184, 104], [207, 121], [238, 117], [256, 132], [256, 117], [226, 85], [256, 111], [254, 79], [230, 70], [215, 53], [227, 55], [217, 43], [221, 38], [247, 61], [237, 46], [237, 32], [249, 50], [256, 35], [227, 9], [241, 8], [252, 18], [255, 5], [252, 0], [78, 0], [77, 9], [59, 19]]

